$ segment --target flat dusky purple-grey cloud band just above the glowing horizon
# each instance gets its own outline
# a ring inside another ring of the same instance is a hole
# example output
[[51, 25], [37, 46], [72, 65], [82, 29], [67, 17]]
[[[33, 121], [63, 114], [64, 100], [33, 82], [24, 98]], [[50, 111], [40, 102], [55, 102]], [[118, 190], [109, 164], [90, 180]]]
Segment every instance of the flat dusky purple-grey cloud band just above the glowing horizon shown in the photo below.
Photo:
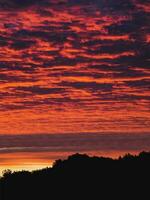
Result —
[[149, 134], [55, 134], [0, 136], [0, 153], [141, 151], [149, 149]]

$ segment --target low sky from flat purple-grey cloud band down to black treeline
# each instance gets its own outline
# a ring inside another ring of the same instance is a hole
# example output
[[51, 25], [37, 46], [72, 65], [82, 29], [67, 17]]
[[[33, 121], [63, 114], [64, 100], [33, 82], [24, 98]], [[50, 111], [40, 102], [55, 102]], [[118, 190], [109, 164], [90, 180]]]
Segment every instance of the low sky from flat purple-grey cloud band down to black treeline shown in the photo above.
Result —
[[[20, 145], [21, 144], [21, 145]], [[0, 135], [0, 174], [50, 167], [75, 153], [118, 158], [150, 151], [150, 133]]]

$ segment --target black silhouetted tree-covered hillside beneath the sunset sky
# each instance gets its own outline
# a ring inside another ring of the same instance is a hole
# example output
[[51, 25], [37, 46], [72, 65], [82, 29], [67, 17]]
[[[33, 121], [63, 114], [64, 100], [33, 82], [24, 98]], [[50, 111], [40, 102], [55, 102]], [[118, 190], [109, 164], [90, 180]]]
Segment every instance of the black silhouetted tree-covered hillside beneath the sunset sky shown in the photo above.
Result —
[[150, 153], [110, 158], [76, 154], [52, 168], [7, 171], [0, 200], [150, 199]]

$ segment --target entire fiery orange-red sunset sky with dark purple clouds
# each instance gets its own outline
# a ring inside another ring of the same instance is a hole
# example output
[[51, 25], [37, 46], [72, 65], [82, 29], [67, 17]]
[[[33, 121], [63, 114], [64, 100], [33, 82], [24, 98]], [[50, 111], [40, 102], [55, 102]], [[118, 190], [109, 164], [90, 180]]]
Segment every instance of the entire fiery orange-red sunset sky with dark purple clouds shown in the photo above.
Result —
[[0, 171], [150, 146], [149, 0], [0, 0]]

